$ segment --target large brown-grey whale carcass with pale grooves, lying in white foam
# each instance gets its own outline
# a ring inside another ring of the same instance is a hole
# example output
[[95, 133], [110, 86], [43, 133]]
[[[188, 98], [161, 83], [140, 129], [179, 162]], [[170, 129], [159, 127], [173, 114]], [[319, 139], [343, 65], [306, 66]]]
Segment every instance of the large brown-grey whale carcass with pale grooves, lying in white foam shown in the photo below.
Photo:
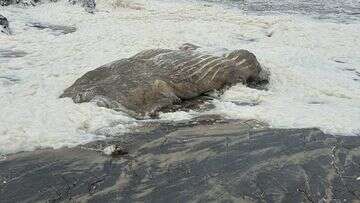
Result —
[[145, 116], [209, 91], [264, 80], [249, 51], [213, 56], [195, 49], [185, 44], [179, 50], [142, 51], [86, 73], [60, 97]]

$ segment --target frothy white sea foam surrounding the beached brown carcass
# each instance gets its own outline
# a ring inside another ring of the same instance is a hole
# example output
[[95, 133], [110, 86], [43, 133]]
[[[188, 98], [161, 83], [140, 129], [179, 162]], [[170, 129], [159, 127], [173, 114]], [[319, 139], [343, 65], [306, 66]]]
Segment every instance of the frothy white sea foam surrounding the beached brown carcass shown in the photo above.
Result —
[[[211, 111], [165, 113], [162, 120], [217, 113], [276, 128], [359, 135], [358, 8], [351, 0], [98, 0], [95, 15], [66, 1], [2, 7], [14, 35], [0, 35], [0, 153], [75, 146], [128, 132], [138, 125], [128, 115], [58, 96], [102, 64], [183, 43], [216, 53], [252, 51], [271, 72], [269, 90], [237, 85], [213, 101]], [[63, 34], [31, 23], [76, 31]]]

